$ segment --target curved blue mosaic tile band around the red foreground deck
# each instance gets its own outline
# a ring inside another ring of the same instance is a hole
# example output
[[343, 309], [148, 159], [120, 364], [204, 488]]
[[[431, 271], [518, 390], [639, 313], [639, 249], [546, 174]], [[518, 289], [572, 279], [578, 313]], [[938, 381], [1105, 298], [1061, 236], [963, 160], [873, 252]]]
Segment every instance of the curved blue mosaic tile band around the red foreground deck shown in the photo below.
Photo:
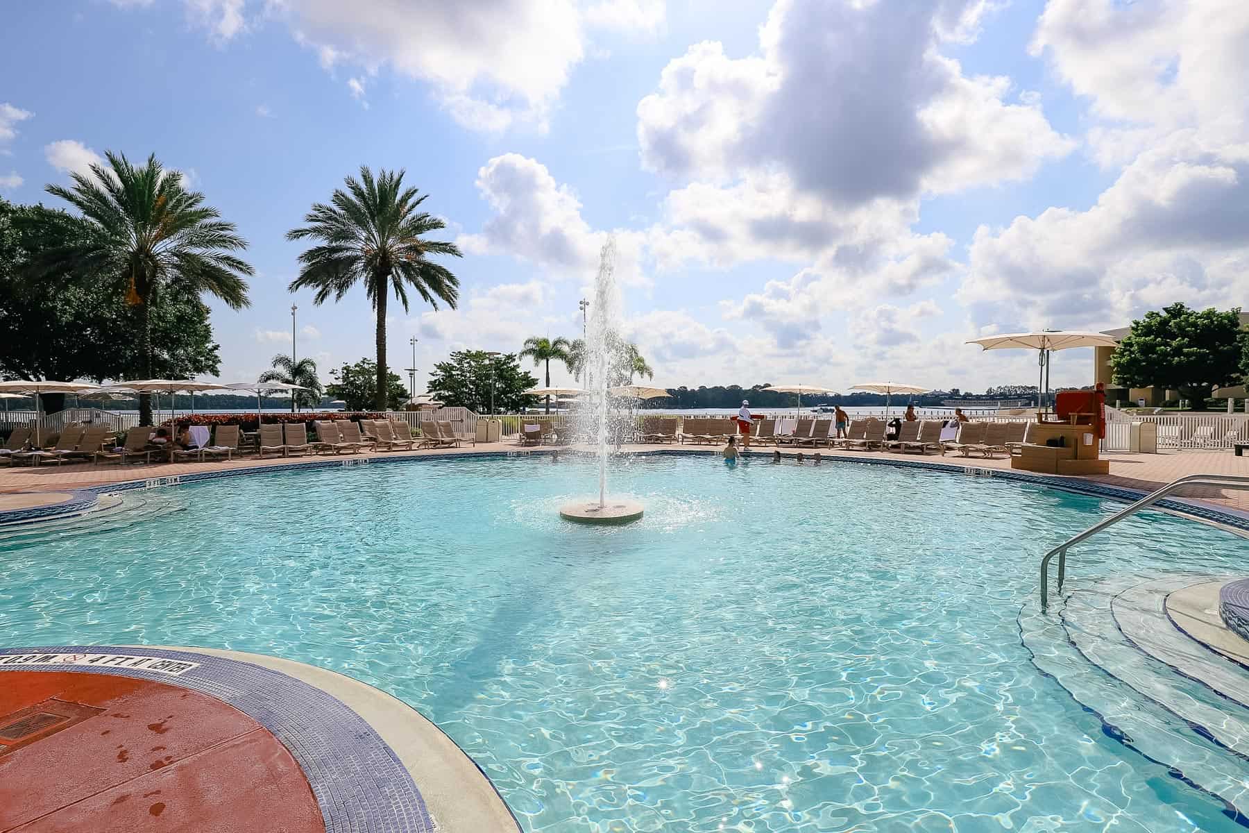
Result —
[[376, 731], [342, 701], [287, 674], [207, 653], [147, 647], [59, 646], [0, 649], [34, 653], [120, 653], [199, 663], [171, 677], [144, 668], [12, 666], [4, 671], [59, 671], [136, 677], [181, 686], [229, 703], [272, 732], [300, 764], [327, 833], [435, 833], [412, 776]]

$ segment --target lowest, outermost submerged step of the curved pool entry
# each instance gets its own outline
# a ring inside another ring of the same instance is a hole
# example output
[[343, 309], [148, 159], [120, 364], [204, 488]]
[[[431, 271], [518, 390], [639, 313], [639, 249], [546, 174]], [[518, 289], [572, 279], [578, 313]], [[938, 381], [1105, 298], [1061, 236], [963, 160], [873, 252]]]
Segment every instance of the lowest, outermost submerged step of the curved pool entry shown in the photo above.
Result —
[[[1124, 587], [1142, 578], [1128, 577]], [[1177, 777], [1249, 812], [1249, 761], [1194, 732], [1193, 727], [1135, 688], [1094, 664], [1077, 647], [1062, 617], [1064, 601], [1042, 613], [1029, 599], [1019, 631], [1033, 664], [1050, 676], [1077, 703], [1099, 717], [1103, 732], [1130, 749], [1169, 767]], [[1109, 611], [1107, 611], [1109, 617]], [[1174, 672], [1168, 672], [1174, 674]]]

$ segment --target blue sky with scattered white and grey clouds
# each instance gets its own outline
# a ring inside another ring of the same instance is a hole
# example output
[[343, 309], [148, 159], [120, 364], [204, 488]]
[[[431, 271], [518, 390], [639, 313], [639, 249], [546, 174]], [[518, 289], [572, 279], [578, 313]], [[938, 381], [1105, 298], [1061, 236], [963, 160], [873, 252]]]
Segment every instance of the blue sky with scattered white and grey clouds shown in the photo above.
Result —
[[[965, 341], [1249, 296], [1243, 0], [64, 0], [0, 35], [0, 195], [155, 154], [247, 239], [222, 381], [373, 353], [362, 290], [291, 295], [285, 232], [403, 169], [458, 308], [390, 306], [417, 387], [453, 350], [581, 335], [608, 235], [662, 386], [983, 391]], [[1092, 383], [1090, 351], [1054, 385]], [[541, 377], [542, 373], [537, 372]], [[552, 382], [568, 381], [562, 366]]]

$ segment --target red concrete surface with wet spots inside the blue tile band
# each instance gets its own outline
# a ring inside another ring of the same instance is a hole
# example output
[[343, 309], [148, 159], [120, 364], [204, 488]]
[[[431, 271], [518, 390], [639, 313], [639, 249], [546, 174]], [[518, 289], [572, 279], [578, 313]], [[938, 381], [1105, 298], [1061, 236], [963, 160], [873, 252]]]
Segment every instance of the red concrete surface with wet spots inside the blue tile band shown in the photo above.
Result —
[[4, 671], [0, 831], [325, 833], [325, 823], [291, 754], [231, 706], [130, 677]]

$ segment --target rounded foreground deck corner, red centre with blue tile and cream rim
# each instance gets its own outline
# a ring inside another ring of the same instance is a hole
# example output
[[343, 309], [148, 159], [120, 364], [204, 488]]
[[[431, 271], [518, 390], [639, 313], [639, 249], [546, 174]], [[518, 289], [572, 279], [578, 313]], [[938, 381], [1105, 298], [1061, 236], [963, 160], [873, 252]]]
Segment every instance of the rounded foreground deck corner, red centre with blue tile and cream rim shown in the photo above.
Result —
[[304, 663], [157, 646], [0, 648], [0, 831], [518, 833], [446, 734]]

